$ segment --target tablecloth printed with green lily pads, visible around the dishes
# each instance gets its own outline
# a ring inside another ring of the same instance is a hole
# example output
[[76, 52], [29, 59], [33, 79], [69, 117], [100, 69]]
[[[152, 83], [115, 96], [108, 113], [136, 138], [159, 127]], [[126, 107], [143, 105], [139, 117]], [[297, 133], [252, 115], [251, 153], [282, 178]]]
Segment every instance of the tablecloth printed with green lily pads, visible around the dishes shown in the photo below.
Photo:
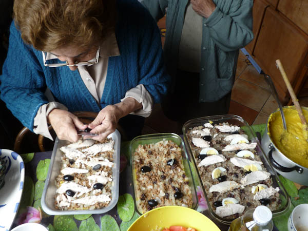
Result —
[[[265, 124], [262, 125], [253, 125], [252, 128], [255, 131], [260, 132], [261, 136], [265, 130]], [[51, 158], [51, 151], [47, 152], [36, 152], [36, 153], [27, 153], [21, 155], [25, 161], [26, 168], [26, 177], [25, 177], [25, 186], [23, 197], [21, 201], [20, 208], [18, 209], [18, 215], [15, 218], [14, 224], [12, 226], [15, 227], [17, 225], [18, 218], [26, 210], [27, 206], [33, 206], [35, 208], [41, 207], [41, 197], [44, 188], [44, 181], [47, 176], [48, 166]], [[121, 155], [124, 155], [129, 163], [129, 142], [123, 142], [121, 144]], [[284, 184], [288, 194], [290, 194], [292, 198], [293, 205], [289, 208], [286, 214], [277, 217], [274, 219], [275, 225], [279, 228], [279, 231], [287, 230], [286, 223], [287, 218], [290, 215], [294, 206], [301, 203], [308, 203], [308, 188], [302, 188], [298, 190], [295, 184], [292, 181], [284, 179], [282, 176], [281, 181]], [[129, 198], [128, 195], [133, 196], [133, 187], [132, 187], [132, 174], [131, 168], [129, 165], [121, 172], [120, 174], [120, 187], [119, 187], [119, 197], [123, 196], [121, 201], [121, 206], [123, 204], [123, 200], [125, 198]], [[129, 205], [124, 205], [129, 207]], [[123, 209], [120, 208], [120, 215], [123, 213]], [[93, 214], [93, 215], [66, 215], [66, 216], [49, 216], [46, 213], [43, 213], [43, 218], [41, 220], [41, 224], [48, 227], [49, 230], [104, 230], [104, 231], [116, 231], [116, 230], [127, 230], [130, 224], [136, 220], [139, 215], [135, 211], [133, 214], [130, 214], [129, 217], [132, 218], [129, 220], [127, 215], [122, 216], [122, 221], [117, 206], [112, 208], [106, 214]], [[202, 212], [204, 215], [209, 217], [208, 210]], [[214, 222], [218, 225], [221, 230], [227, 230], [227, 225], [222, 225], [217, 223], [216, 220]], [[275, 229], [278, 230], [278, 229]]]

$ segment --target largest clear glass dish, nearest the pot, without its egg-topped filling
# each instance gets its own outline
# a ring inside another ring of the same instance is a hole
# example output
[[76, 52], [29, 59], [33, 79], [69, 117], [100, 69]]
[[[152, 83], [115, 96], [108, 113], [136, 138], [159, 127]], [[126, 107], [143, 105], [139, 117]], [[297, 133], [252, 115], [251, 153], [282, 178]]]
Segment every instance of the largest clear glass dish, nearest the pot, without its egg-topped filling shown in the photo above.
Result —
[[224, 223], [224, 224], [229, 225], [233, 221], [233, 219], [225, 219], [223, 217], [219, 217], [218, 215], [216, 215], [216, 213], [212, 209], [211, 206], [213, 206], [213, 205], [211, 205], [209, 200], [208, 200], [204, 185], [202, 183], [202, 180], [201, 180], [201, 177], [200, 177], [200, 174], [199, 174], [197, 163], [195, 161], [195, 158], [193, 156], [193, 152], [192, 152], [190, 145], [189, 145], [189, 142], [188, 142], [188, 138], [186, 136], [186, 132], [189, 129], [194, 128], [196, 126], [204, 125], [205, 123], [208, 123], [209, 121], [213, 121], [214, 124], [228, 122], [229, 124], [239, 126], [247, 134], [248, 140], [250, 140], [251, 142], [257, 143], [257, 147], [256, 147], [255, 150], [258, 152], [264, 167], [271, 174], [271, 178], [273, 180], [273, 187], [279, 187], [279, 189], [280, 189], [279, 197], [280, 197], [282, 202], [281, 202], [279, 209], [272, 211], [273, 217], [276, 217], [276, 216], [283, 214], [286, 211], [286, 209], [290, 206], [290, 198], [287, 196], [287, 193], [286, 193], [282, 183], [280, 182], [279, 177], [276, 174], [276, 171], [273, 169], [272, 165], [270, 164], [266, 155], [264, 154], [264, 152], [261, 148], [260, 142], [257, 139], [256, 133], [248, 125], [248, 123], [243, 118], [239, 117], [238, 115], [215, 115], [215, 116], [210, 116], [210, 117], [202, 117], [202, 118], [198, 118], [198, 119], [189, 120], [183, 125], [183, 135], [184, 135], [185, 146], [187, 148], [189, 158], [192, 159], [192, 162], [194, 162], [194, 169], [193, 170], [195, 170], [195, 172], [197, 172], [198, 182], [199, 182], [199, 185], [201, 186], [201, 188], [203, 190], [203, 194], [204, 194], [206, 202], [208, 204], [208, 209], [209, 209], [210, 215], [213, 216], [219, 222]]

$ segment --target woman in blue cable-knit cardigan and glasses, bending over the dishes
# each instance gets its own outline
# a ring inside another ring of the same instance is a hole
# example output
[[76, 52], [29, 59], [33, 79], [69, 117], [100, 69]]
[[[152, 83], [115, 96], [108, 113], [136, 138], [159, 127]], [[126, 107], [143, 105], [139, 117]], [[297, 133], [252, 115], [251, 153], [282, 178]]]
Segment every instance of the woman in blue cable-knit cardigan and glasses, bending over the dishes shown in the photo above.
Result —
[[[75, 142], [77, 130], [103, 140], [118, 122], [140, 132], [169, 75], [157, 25], [137, 0], [15, 0], [0, 81], [1, 99], [24, 126], [51, 138], [51, 124]], [[73, 111], [99, 113], [85, 125]]]

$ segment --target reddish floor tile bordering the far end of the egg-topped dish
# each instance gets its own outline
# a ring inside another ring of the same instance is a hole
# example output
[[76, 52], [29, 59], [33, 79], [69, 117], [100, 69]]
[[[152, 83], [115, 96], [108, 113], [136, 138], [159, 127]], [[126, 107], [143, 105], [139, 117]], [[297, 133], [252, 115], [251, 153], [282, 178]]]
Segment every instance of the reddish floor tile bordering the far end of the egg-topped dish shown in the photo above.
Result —
[[248, 124], [251, 125], [255, 121], [255, 119], [258, 115], [258, 111], [253, 110], [249, 107], [245, 107], [244, 105], [237, 103], [237, 102], [232, 100], [230, 102], [230, 109], [229, 109], [228, 114], [239, 115], [245, 121], [247, 121]]

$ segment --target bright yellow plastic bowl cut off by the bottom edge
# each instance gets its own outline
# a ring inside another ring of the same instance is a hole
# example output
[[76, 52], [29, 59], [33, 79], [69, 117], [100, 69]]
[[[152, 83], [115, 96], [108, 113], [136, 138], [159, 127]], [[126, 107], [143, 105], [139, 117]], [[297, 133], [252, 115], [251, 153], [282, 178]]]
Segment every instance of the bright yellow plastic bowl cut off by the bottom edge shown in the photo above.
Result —
[[163, 206], [152, 209], [134, 221], [127, 231], [142, 231], [157, 227], [181, 225], [197, 231], [220, 231], [216, 224], [198, 211], [182, 206]]

